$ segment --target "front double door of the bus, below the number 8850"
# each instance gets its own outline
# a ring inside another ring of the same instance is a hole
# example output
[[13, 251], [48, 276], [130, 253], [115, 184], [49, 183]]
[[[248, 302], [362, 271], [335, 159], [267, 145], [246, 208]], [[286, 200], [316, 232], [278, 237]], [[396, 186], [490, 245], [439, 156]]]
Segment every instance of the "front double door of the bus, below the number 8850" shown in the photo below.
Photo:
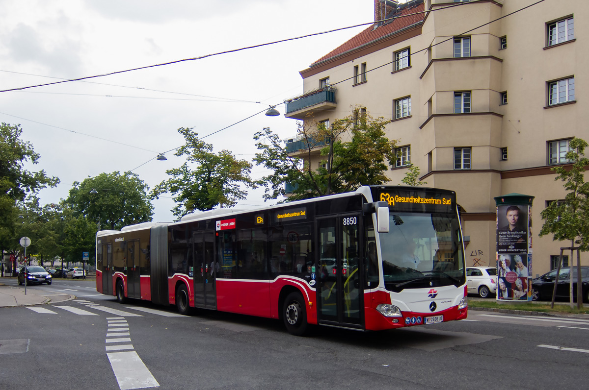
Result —
[[361, 222], [360, 214], [317, 219], [320, 324], [362, 328]]

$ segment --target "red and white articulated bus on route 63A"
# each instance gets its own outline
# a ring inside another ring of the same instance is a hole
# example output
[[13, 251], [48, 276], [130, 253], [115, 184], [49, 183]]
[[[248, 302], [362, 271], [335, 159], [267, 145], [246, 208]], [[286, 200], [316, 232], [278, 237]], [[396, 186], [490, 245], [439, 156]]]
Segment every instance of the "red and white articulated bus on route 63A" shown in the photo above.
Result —
[[253, 211], [100, 231], [97, 290], [155, 304], [360, 331], [464, 319], [455, 192], [363, 186]]

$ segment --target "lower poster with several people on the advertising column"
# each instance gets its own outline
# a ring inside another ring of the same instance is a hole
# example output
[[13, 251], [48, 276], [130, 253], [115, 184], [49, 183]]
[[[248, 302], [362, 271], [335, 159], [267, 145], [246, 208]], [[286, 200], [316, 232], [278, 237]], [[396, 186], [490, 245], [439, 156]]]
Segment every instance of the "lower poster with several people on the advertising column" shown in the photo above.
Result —
[[497, 255], [497, 299], [531, 300], [531, 255]]

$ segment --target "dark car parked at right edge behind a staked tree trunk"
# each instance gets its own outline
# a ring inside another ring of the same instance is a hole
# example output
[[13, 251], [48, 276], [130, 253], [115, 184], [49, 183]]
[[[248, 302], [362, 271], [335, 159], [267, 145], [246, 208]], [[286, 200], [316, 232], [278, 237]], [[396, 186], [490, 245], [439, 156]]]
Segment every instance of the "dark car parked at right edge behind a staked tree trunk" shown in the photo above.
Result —
[[[553, 269], [532, 281], [532, 301], [550, 301], [554, 289], [557, 270]], [[569, 297], [571, 268], [562, 267], [558, 274], [556, 288], [557, 298]], [[581, 267], [581, 283], [583, 284], [583, 301], [589, 302], [589, 267]], [[577, 296], [577, 267], [573, 268], [573, 296]]]

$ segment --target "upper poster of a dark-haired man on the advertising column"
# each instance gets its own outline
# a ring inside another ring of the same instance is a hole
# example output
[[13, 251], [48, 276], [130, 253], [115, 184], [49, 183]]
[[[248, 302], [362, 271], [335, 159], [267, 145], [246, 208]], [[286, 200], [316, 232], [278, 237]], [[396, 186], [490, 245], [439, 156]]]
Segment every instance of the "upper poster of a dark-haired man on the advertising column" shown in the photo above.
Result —
[[525, 205], [497, 206], [497, 252], [527, 254], [530, 210]]

